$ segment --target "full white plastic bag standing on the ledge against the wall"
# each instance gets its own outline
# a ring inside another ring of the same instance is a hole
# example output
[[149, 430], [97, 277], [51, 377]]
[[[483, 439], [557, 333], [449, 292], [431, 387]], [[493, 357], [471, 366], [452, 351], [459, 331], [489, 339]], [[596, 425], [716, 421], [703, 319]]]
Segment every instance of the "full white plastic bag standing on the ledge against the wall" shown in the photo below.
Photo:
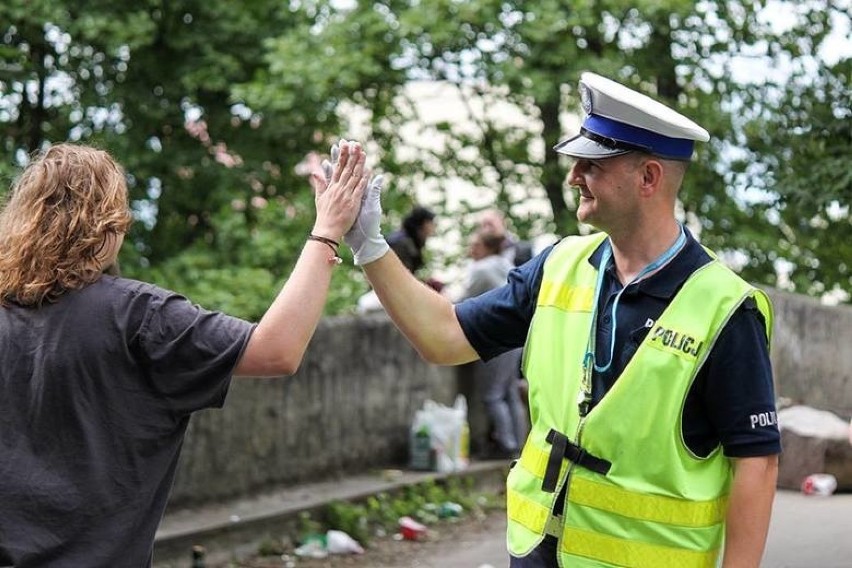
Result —
[[458, 395], [452, 407], [427, 400], [411, 424], [412, 469], [458, 471], [469, 462], [467, 400]]

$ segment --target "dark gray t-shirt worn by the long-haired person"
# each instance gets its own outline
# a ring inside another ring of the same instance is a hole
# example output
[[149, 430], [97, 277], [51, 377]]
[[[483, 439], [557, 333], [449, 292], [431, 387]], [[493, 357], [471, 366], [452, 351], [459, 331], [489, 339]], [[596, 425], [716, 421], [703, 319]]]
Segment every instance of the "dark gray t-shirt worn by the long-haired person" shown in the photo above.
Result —
[[149, 566], [190, 415], [253, 329], [112, 276], [0, 307], [0, 566]]

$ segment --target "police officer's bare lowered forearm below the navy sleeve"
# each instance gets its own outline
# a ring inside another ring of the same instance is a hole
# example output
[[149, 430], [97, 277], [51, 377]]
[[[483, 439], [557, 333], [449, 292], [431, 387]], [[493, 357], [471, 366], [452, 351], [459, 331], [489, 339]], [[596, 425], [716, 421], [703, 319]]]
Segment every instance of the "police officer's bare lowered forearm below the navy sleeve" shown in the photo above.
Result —
[[740, 458], [734, 466], [722, 566], [757, 568], [769, 532], [778, 456]]

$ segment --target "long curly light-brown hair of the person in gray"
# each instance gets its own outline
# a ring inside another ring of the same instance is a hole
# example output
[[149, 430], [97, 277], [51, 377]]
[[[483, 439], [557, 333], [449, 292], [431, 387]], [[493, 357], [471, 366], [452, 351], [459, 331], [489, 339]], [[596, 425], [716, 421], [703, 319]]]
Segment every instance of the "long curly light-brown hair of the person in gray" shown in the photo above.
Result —
[[107, 152], [76, 144], [41, 152], [0, 212], [0, 304], [39, 306], [94, 282], [109, 234], [131, 221], [124, 171]]

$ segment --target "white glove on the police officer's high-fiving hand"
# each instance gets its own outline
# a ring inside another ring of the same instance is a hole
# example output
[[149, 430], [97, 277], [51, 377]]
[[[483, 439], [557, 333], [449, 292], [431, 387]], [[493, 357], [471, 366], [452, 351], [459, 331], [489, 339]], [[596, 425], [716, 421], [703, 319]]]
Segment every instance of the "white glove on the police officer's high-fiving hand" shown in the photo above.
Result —
[[[341, 144], [346, 140], [341, 140]], [[331, 180], [331, 173], [340, 157], [340, 147], [333, 144], [331, 147], [331, 162], [323, 160], [322, 169], [326, 180]], [[374, 260], [383, 257], [389, 250], [385, 238], [382, 236], [382, 182], [384, 178], [376, 175], [370, 178], [367, 188], [361, 196], [361, 210], [352, 228], [343, 235], [343, 242], [352, 249], [356, 266], [364, 266]]]

